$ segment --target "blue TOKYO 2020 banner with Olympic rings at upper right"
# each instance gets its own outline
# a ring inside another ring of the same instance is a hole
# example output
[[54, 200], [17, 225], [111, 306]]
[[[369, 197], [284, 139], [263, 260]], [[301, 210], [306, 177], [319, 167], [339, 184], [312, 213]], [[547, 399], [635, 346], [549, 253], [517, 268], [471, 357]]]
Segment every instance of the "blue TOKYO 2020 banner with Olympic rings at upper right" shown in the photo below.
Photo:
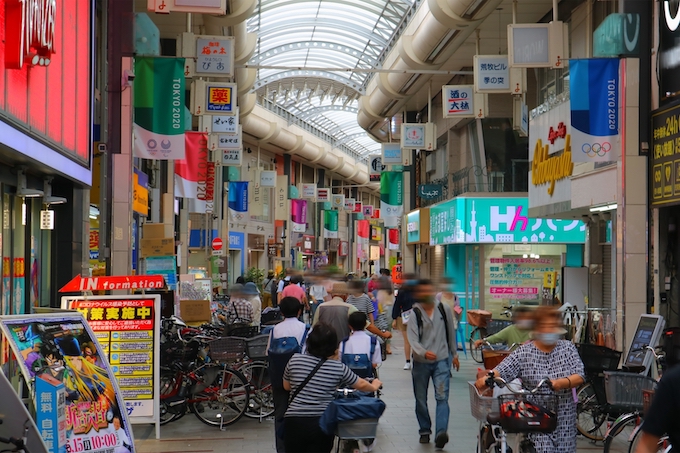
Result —
[[619, 157], [619, 60], [569, 61], [572, 90], [571, 148], [574, 162], [611, 162]]

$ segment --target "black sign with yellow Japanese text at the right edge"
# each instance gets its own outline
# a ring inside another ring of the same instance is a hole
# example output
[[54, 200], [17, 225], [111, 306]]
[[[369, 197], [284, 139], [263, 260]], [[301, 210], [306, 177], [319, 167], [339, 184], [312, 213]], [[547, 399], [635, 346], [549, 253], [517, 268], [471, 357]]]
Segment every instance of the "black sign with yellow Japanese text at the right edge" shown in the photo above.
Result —
[[[680, 13], [679, 13], [680, 16]], [[680, 104], [652, 113], [652, 205], [680, 202]]]

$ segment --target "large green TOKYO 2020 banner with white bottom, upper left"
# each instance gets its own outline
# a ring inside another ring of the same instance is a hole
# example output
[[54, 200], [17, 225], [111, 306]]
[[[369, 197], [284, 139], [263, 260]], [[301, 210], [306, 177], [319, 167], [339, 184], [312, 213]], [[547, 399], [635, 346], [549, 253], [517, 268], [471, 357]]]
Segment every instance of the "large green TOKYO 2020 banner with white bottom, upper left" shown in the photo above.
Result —
[[184, 58], [135, 57], [135, 157], [184, 159], [184, 81]]

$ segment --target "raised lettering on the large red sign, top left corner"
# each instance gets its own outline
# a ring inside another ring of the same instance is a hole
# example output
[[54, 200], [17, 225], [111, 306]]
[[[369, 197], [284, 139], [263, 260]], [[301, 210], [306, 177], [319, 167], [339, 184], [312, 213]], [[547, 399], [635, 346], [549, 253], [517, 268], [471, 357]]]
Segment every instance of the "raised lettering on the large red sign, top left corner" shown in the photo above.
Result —
[[21, 69], [50, 64], [54, 52], [56, 0], [7, 0], [5, 3], [5, 65]]

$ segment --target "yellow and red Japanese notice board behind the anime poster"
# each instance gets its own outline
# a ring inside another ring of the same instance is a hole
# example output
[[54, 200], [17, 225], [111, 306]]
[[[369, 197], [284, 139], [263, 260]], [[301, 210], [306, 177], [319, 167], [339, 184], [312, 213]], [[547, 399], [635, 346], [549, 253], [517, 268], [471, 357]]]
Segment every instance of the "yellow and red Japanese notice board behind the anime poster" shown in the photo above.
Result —
[[155, 353], [160, 296], [65, 297], [62, 308], [77, 310], [87, 319], [118, 379], [132, 421], [153, 417], [154, 375], [158, 375], [154, 364], [160, 360]]

